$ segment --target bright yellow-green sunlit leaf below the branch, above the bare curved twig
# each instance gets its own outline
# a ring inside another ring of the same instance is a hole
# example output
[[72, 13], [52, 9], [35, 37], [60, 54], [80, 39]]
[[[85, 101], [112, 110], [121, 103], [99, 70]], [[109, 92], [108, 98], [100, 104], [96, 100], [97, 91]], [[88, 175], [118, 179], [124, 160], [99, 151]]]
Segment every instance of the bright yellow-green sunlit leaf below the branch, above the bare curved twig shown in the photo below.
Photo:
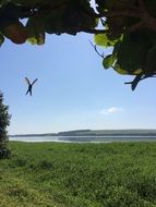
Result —
[[94, 40], [98, 46], [115, 46], [118, 40], [109, 40], [106, 34], [97, 34], [94, 36]]

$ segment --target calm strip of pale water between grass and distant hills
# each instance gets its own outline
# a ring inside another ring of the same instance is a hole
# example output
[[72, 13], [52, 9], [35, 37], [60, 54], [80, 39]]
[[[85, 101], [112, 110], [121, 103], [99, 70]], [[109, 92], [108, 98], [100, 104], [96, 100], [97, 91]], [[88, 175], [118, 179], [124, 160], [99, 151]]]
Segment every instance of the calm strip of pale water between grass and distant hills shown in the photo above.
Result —
[[27, 143], [58, 142], [58, 143], [112, 143], [112, 142], [156, 142], [156, 136], [16, 136], [10, 141]]

